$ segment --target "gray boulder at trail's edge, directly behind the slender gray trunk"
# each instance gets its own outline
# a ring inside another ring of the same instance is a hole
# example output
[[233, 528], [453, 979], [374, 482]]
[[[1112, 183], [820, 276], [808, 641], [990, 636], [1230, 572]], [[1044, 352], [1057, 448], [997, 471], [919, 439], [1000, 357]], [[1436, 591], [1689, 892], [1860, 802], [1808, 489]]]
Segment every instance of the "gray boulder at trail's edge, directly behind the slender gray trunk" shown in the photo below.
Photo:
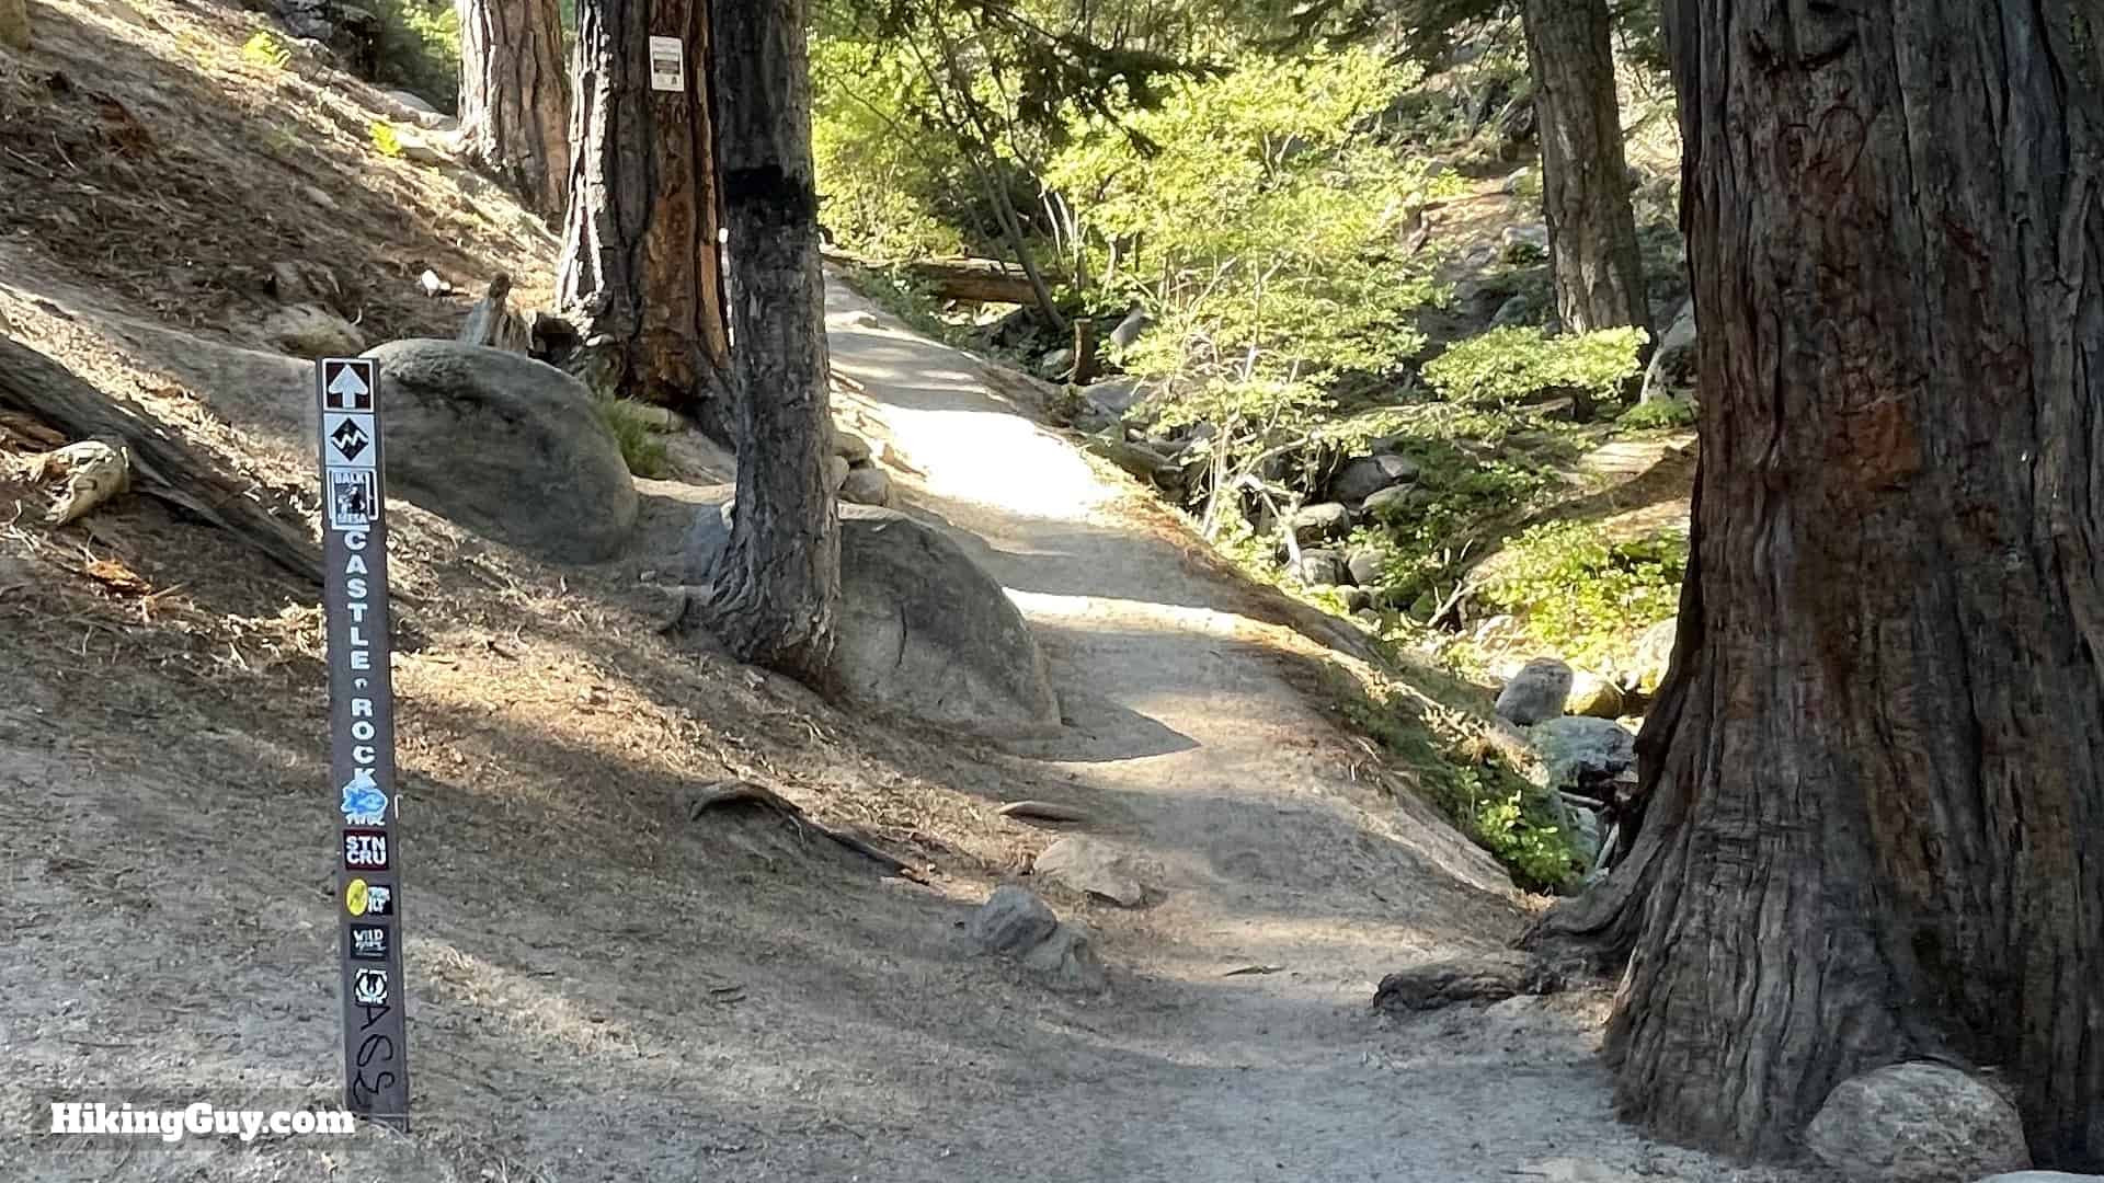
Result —
[[[730, 537], [732, 503], [705, 507], [686, 568], [705, 579]], [[1023, 613], [964, 547], [896, 509], [839, 507], [833, 676], [850, 703], [951, 730], [1058, 730], [1058, 699]]]

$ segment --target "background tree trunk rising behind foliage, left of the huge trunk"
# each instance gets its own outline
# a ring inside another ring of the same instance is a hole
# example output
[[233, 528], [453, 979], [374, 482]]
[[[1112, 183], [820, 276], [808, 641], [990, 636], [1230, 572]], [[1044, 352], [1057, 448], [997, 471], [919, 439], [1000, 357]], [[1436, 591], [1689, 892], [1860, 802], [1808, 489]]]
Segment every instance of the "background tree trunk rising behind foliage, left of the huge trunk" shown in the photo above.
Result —
[[1628, 204], [1607, 0], [1525, 0], [1523, 25], [1557, 316], [1567, 333], [1620, 324], [1647, 330], [1652, 309]]

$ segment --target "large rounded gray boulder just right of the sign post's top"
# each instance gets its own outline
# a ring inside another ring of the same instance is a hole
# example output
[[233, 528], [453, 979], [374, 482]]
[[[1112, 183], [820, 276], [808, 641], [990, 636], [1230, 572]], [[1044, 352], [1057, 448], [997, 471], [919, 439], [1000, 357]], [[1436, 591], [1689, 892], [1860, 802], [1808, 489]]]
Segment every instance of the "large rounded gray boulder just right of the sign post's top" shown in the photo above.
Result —
[[391, 341], [387, 488], [480, 535], [560, 562], [612, 558], [635, 528], [635, 482], [591, 392], [522, 354]]

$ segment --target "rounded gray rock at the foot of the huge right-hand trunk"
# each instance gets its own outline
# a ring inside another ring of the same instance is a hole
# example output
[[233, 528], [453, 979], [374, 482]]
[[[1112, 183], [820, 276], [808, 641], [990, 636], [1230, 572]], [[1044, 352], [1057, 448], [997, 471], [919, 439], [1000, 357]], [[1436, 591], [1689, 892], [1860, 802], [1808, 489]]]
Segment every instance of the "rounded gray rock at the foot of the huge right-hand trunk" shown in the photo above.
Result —
[[2030, 1166], [2016, 1105], [1925, 1061], [1843, 1080], [1805, 1128], [1805, 1147], [1849, 1183], [1965, 1183]]

